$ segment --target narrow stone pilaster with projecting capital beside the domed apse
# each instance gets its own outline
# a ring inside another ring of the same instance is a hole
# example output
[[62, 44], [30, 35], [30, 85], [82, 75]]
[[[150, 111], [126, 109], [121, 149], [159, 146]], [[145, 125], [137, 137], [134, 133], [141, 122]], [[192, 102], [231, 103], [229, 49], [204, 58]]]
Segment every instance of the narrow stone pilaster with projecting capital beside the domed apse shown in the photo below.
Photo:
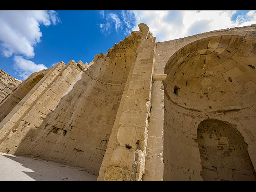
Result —
[[143, 181], [163, 181], [164, 75], [153, 75], [148, 143]]

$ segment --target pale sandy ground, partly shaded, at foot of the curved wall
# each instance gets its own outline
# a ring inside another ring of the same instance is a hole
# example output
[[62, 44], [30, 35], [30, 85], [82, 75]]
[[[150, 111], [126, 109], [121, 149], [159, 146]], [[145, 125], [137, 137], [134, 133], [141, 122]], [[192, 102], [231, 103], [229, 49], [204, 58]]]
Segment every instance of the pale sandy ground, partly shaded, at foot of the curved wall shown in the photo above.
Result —
[[0, 181], [96, 181], [97, 176], [63, 164], [0, 153]]

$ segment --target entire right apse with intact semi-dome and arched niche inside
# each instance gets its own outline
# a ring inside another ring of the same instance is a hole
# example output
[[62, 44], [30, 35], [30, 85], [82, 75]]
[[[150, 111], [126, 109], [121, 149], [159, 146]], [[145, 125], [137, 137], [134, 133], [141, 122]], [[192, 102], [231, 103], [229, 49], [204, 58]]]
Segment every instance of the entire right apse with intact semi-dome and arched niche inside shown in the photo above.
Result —
[[255, 180], [255, 34], [234, 28], [170, 44], [164, 180]]

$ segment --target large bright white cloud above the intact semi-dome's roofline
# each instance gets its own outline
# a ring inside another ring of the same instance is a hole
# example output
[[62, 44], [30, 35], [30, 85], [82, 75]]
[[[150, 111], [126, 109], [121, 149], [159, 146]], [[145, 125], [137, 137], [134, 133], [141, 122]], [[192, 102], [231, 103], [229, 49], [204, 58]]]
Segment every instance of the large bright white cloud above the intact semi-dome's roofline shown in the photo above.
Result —
[[146, 23], [157, 41], [178, 39], [202, 32], [247, 26], [256, 23], [256, 12], [238, 15], [232, 20], [236, 11], [133, 11], [136, 25]]

